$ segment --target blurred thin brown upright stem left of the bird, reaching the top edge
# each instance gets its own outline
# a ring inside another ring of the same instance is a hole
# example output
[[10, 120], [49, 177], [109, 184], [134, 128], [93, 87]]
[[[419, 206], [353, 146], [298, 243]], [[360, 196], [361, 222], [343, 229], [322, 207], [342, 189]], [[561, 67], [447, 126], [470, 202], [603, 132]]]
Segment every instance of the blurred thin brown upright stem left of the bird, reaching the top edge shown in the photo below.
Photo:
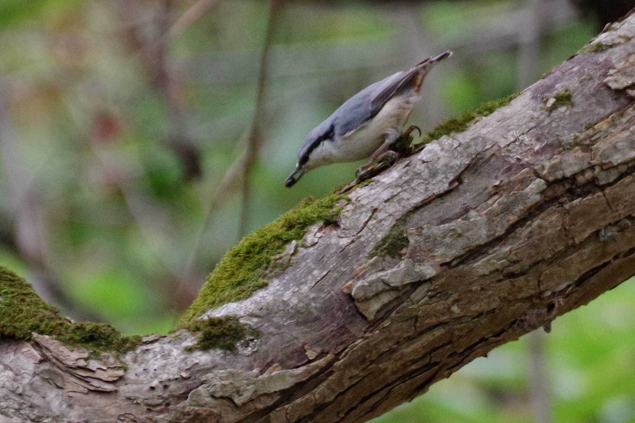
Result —
[[238, 225], [239, 238], [243, 237], [247, 229], [247, 219], [251, 209], [251, 182], [249, 174], [253, 165], [258, 159], [258, 153], [262, 146], [262, 124], [265, 117], [265, 88], [269, 78], [269, 49], [273, 39], [274, 28], [276, 27], [277, 15], [282, 5], [281, 0], [269, 1], [269, 23], [265, 32], [265, 41], [260, 55], [260, 72], [258, 72], [257, 97], [251, 131], [247, 138], [247, 150], [243, 167], [243, 205], [241, 207], [240, 221]]

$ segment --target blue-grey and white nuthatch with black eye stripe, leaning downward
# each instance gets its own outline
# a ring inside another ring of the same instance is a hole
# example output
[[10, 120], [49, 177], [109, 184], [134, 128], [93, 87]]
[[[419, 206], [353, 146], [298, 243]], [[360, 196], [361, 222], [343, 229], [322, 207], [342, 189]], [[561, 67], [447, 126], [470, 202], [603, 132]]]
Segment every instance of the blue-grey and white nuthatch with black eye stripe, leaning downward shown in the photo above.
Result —
[[415, 103], [421, 100], [419, 91], [425, 75], [451, 54], [445, 51], [429, 57], [410, 70], [397, 72], [352, 96], [307, 135], [298, 152], [298, 164], [284, 186], [293, 186], [316, 167], [371, 157], [371, 163], [360, 167], [360, 172], [389, 153]]

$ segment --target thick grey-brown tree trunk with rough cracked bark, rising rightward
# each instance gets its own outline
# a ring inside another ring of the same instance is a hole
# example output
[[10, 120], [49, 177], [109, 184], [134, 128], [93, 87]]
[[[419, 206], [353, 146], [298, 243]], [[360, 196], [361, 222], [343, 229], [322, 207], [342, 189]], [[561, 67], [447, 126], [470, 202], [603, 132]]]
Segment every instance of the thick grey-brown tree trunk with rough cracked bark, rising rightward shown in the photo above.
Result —
[[634, 36], [631, 15], [354, 190], [268, 287], [206, 313], [260, 331], [234, 352], [0, 342], [0, 420], [363, 422], [612, 289], [635, 273]]

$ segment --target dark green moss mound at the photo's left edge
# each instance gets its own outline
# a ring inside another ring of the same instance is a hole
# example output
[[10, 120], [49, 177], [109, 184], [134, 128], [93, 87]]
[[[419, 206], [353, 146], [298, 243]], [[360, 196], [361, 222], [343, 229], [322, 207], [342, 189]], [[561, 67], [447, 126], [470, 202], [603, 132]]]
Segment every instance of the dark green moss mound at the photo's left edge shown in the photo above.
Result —
[[0, 266], [0, 337], [28, 341], [32, 332], [97, 353], [123, 353], [141, 344], [140, 336], [123, 336], [105, 323], [72, 323], [57, 307], [41, 299], [23, 278]]

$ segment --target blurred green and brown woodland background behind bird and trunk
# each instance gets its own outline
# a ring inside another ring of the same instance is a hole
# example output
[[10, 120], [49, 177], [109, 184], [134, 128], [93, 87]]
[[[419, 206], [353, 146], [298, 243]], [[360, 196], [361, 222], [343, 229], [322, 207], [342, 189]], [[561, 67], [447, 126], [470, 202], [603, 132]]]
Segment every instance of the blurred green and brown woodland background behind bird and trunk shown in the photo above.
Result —
[[[411, 122], [526, 88], [630, 0], [0, 1], [0, 264], [76, 320], [173, 329], [292, 189], [305, 134], [451, 49]], [[635, 422], [635, 284], [479, 358], [377, 422]]]

